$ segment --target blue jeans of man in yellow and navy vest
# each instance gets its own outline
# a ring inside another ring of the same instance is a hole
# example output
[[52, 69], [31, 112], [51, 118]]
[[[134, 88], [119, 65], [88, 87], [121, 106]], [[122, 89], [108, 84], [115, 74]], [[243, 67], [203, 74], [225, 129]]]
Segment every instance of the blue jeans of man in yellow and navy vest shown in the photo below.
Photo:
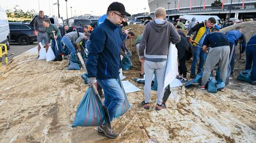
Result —
[[203, 51], [201, 47], [195, 47], [193, 61], [191, 64], [191, 74], [196, 74], [196, 63], [198, 60], [200, 61], [199, 61], [197, 73], [200, 73], [202, 71], [206, 56], [207, 56], [206, 53]]

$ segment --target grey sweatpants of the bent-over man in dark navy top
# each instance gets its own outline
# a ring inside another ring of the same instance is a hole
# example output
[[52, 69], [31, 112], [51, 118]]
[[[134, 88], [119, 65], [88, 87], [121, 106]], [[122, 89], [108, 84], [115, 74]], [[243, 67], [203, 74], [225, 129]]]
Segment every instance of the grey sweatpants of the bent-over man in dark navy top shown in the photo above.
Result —
[[205, 86], [209, 80], [210, 73], [212, 72], [215, 65], [219, 63], [220, 78], [223, 82], [226, 81], [227, 69], [228, 69], [228, 58], [230, 48], [229, 46], [220, 46], [210, 48], [209, 53], [205, 61], [205, 69], [202, 77], [201, 85]]

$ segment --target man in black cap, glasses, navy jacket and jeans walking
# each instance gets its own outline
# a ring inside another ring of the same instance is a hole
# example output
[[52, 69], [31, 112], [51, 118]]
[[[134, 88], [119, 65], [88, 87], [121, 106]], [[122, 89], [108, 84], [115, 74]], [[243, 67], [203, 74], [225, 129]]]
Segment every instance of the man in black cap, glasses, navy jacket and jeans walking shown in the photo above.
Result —
[[[108, 108], [109, 119], [113, 120], [117, 108], [124, 102], [124, 92], [118, 84], [119, 69], [121, 68], [120, 51], [122, 41], [128, 31], [122, 32], [121, 23], [124, 16], [130, 16], [125, 12], [122, 3], [111, 3], [107, 10], [107, 19], [93, 30], [90, 36], [90, 49], [86, 68], [88, 71], [89, 86], [97, 82], [103, 88], [104, 104]], [[98, 134], [108, 138], [118, 136], [110, 129], [105, 121], [98, 127]]]

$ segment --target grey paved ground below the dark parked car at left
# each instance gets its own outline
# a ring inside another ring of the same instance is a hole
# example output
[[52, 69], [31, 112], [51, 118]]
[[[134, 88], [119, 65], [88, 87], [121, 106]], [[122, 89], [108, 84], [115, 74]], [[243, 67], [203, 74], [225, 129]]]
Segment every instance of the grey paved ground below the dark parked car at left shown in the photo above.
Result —
[[[18, 56], [28, 51], [29, 49], [35, 47], [36, 45], [36, 42], [29, 45], [19, 45], [18, 43], [11, 43], [10, 50], [8, 51], [8, 62], [10, 62], [14, 56]], [[2, 59], [2, 64], [5, 65], [4, 57]]]

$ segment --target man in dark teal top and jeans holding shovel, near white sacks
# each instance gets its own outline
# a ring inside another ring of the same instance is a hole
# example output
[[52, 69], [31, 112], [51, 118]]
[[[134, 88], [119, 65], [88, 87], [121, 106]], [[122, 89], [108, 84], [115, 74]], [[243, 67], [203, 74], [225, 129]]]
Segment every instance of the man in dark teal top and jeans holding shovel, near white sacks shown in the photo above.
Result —
[[[45, 31], [47, 33], [48, 43], [50, 43], [50, 41], [51, 41], [50, 37], [52, 37], [51, 47], [52, 47], [52, 51], [54, 52], [55, 59], [56, 59], [57, 55], [62, 52], [62, 45], [60, 43], [60, 40], [62, 37], [61, 37], [60, 29], [58, 29], [58, 27], [55, 26], [54, 24], [50, 24], [50, 20], [44, 20], [43, 25], [46, 28]], [[56, 43], [56, 41], [57, 41], [57, 43]], [[58, 45], [58, 48], [56, 48], [57, 45]]]

